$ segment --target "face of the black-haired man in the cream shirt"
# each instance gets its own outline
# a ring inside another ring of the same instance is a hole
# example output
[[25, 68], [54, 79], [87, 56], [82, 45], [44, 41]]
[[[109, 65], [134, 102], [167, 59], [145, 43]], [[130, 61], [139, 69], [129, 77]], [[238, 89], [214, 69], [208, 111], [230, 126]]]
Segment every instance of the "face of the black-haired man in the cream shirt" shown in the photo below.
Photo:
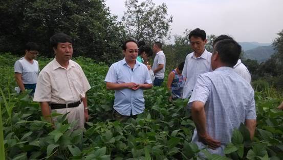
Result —
[[73, 46], [69, 42], [58, 43], [57, 49], [53, 48], [53, 50], [59, 63], [68, 62], [73, 55]]

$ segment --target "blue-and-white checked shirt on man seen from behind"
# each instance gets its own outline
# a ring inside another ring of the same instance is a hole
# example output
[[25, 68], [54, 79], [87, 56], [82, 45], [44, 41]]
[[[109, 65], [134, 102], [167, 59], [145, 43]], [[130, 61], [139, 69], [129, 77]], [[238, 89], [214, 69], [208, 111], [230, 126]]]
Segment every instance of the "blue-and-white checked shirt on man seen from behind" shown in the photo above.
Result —
[[[231, 67], [220, 67], [201, 74], [190, 97], [189, 108], [194, 101], [205, 104], [206, 130], [212, 138], [221, 142], [221, 147], [208, 149], [212, 154], [224, 155], [233, 129], [244, 124], [245, 119], [256, 119], [254, 91]], [[194, 130], [192, 142], [204, 148], [198, 138], [197, 130]]]

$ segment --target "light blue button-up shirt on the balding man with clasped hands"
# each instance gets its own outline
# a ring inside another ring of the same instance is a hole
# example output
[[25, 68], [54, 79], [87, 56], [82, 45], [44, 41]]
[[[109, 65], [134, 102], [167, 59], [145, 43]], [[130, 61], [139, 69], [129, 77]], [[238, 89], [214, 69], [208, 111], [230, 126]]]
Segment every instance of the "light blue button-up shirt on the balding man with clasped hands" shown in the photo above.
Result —
[[[134, 69], [127, 65], [125, 58], [114, 63], [108, 70], [105, 82], [152, 84], [147, 67], [136, 61]], [[143, 90], [122, 89], [115, 91], [114, 109], [122, 115], [140, 114], [144, 111]]]

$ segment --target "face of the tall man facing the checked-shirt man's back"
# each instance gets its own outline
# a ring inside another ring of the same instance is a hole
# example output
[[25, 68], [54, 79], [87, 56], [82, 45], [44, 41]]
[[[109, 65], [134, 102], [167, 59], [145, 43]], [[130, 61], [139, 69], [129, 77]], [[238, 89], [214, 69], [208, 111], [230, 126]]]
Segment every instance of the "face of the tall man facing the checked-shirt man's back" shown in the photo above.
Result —
[[192, 50], [194, 51], [195, 56], [201, 56], [204, 52], [204, 46], [206, 44], [207, 40], [203, 39], [201, 37], [195, 37], [191, 36], [190, 38], [190, 46]]

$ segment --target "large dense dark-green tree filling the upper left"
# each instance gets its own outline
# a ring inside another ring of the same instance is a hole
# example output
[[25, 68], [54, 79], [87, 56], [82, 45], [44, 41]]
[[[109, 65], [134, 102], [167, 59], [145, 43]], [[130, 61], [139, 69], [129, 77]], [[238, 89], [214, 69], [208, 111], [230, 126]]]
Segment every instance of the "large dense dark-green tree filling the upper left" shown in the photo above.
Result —
[[73, 37], [74, 56], [115, 62], [121, 57], [124, 31], [104, 0], [1, 1], [0, 50], [23, 54], [27, 42], [41, 46], [40, 54], [53, 56], [49, 38], [56, 32]]

